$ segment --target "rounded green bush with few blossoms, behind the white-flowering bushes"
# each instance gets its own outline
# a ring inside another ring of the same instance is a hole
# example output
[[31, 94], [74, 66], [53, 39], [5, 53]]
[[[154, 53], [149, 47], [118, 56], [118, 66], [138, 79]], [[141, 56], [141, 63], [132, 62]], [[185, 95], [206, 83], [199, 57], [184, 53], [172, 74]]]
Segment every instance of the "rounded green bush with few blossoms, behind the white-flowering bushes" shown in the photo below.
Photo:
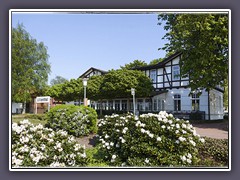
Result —
[[47, 113], [47, 126], [76, 137], [97, 132], [97, 113], [86, 106], [57, 105]]

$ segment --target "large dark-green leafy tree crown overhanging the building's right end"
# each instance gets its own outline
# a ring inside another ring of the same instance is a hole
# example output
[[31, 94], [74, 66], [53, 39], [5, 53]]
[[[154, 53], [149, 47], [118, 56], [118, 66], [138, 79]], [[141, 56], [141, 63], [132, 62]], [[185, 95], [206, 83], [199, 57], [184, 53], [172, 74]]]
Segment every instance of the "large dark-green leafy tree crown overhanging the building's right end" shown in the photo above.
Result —
[[[228, 76], [228, 14], [160, 14], [166, 21], [167, 52], [182, 52], [181, 75], [190, 87], [207, 90], [223, 85]], [[161, 25], [161, 22], [159, 23]]]

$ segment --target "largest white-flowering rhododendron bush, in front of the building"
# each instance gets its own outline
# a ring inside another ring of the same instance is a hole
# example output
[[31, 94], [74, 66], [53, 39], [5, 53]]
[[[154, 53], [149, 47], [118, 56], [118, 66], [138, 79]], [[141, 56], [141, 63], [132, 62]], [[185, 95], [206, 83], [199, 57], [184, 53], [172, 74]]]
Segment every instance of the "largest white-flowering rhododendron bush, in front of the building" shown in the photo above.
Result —
[[164, 111], [105, 116], [98, 129], [101, 151], [114, 166], [194, 166], [204, 142], [188, 121]]

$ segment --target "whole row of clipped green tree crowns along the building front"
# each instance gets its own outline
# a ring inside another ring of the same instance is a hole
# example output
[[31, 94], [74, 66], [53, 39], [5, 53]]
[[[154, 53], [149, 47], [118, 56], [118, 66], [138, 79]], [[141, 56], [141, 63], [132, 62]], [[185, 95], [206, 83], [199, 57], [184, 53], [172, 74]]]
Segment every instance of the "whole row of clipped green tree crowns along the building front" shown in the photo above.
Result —
[[[103, 98], [131, 97], [131, 88], [136, 89], [136, 97], [149, 96], [153, 90], [151, 80], [137, 70], [111, 70], [104, 76], [92, 76], [88, 80], [87, 97], [91, 100]], [[71, 79], [63, 84], [48, 88], [46, 94], [56, 100], [74, 101], [83, 98], [81, 79]]]

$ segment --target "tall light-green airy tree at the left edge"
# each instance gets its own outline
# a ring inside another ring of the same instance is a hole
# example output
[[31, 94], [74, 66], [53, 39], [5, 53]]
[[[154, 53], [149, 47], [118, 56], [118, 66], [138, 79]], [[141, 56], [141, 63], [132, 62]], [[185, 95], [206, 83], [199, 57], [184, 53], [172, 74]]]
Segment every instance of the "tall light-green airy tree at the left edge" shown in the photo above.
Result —
[[12, 28], [12, 101], [25, 105], [32, 94], [38, 94], [47, 85], [50, 73], [49, 55], [43, 42], [36, 39], [18, 24]]

